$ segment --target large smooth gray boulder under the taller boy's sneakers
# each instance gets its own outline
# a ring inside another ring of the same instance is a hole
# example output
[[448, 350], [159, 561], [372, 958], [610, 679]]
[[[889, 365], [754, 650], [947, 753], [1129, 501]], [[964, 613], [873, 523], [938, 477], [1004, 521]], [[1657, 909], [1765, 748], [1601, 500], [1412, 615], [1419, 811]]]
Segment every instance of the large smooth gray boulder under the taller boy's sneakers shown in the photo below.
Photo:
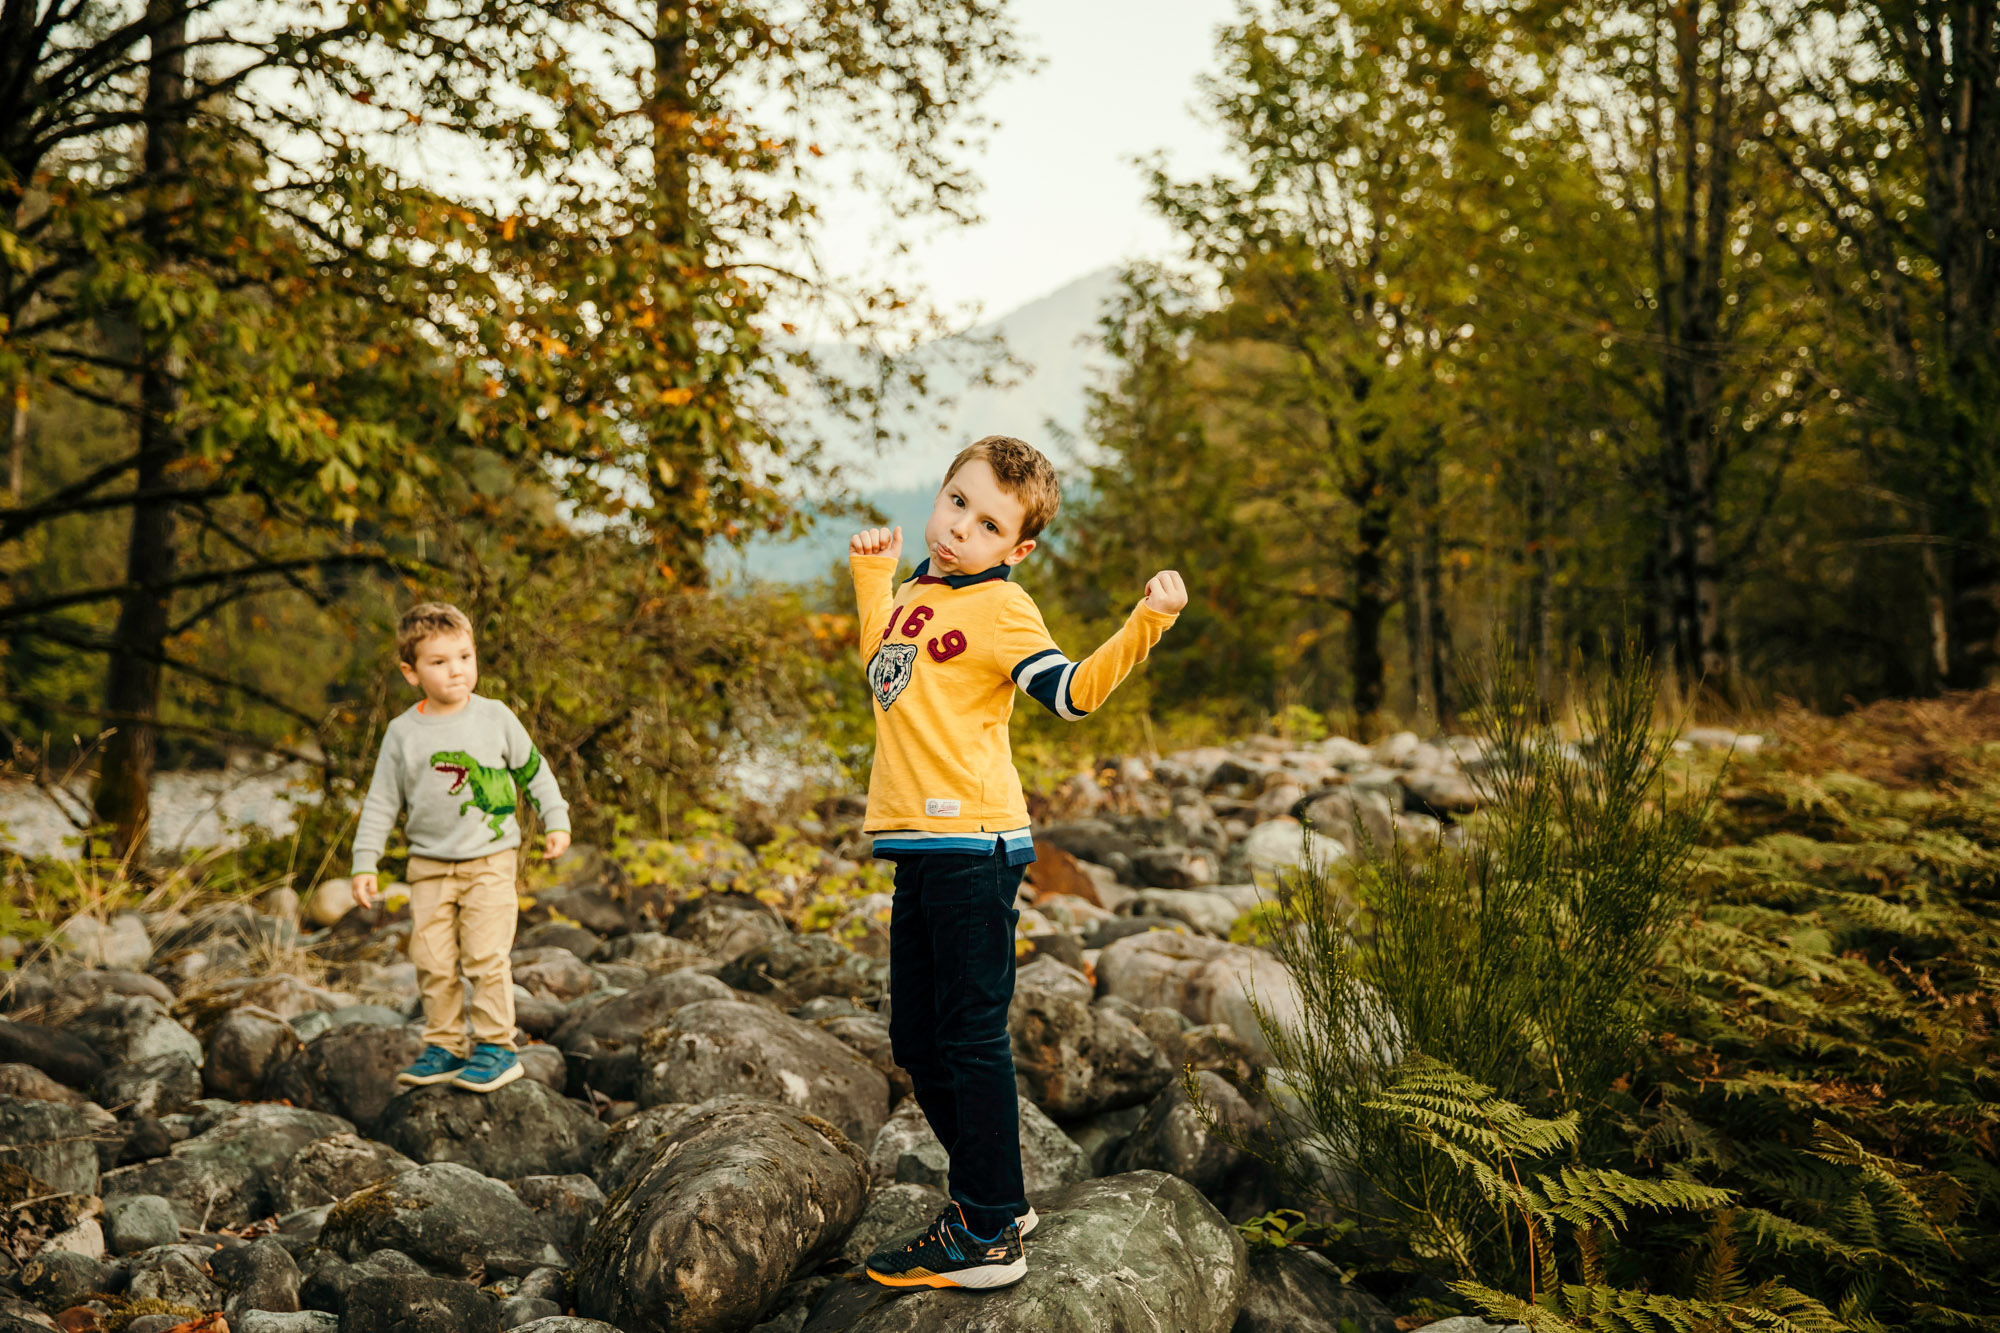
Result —
[[1226, 1333], [1244, 1289], [1244, 1239], [1186, 1181], [1136, 1171], [1052, 1189], [1028, 1277], [998, 1291], [834, 1283], [804, 1333]]

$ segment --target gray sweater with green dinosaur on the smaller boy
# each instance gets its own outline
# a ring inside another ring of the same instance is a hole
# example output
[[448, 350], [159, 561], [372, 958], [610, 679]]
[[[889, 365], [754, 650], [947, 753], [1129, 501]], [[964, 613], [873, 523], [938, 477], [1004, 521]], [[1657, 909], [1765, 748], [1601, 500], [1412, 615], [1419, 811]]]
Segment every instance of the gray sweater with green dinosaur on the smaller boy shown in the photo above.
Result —
[[396, 815], [408, 811], [410, 855], [472, 861], [520, 847], [514, 799], [520, 787], [554, 833], [570, 827], [556, 775], [514, 711], [474, 695], [458, 713], [432, 717], [422, 705], [390, 721], [354, 827], [354, 873], [372, 875]]

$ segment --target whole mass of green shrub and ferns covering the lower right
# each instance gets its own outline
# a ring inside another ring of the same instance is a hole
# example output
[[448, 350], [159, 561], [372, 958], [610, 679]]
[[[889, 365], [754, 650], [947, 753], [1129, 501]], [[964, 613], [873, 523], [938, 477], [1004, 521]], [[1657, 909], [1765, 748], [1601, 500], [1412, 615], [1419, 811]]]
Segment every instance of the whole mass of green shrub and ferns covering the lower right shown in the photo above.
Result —
[[2000, 695], [1782, 709], [1688, 761], [1650, 699], [1610, 681], [1570, 751], [1498, 675], [1466, 843], [1294, 881], [1302, 1015], [1260, 1015], [1288, 1203], [1534, 1327], [1994, 1323]]

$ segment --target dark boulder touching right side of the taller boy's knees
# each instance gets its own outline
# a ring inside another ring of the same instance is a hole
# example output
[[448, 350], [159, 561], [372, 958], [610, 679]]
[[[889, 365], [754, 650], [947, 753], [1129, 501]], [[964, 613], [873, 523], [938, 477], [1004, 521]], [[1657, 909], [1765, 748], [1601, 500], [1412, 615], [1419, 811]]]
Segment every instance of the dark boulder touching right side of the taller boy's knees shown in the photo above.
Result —
[[1020, 1091], [1058, 1119], [1148, 1101], [1174, 1077], [1138, 1025], [1092, 1005], [1084, 975], [1054, 959], [1016, 973], [1008, 1033]]

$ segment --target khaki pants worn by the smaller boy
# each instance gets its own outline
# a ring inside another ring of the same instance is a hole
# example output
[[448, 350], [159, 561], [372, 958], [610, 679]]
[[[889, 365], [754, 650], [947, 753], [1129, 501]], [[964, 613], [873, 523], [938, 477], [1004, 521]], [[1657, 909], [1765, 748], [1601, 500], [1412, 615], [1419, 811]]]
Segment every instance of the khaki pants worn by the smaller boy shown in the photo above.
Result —
[[514, 849], [474, 861], [410, 857], [410, 961], [424, 991], [424, 1043], [466, 1055], [464, 971], [472, 1041], [514, 1049]]

